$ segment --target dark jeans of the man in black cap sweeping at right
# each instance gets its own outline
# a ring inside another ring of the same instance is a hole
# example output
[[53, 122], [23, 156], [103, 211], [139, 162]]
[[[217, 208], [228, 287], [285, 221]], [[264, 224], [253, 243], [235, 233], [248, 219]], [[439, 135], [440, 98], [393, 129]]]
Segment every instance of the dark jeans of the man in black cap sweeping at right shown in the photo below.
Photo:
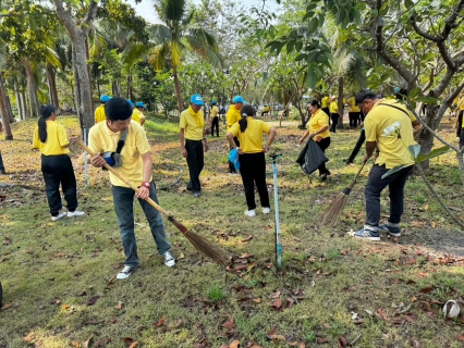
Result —
[[364, 229], [377, 232], [380, 221], [380, 192], [389, 187], [390, 191], [390, 217], [391, 226], [399, 226], [404, 206], [404, 185], [413, 166], [407, 166], [392, 175], [381, 178], [389, 170], [383, 165], [375, 164], [369, 173], [364, 196], [366, 199], [366, 223]]

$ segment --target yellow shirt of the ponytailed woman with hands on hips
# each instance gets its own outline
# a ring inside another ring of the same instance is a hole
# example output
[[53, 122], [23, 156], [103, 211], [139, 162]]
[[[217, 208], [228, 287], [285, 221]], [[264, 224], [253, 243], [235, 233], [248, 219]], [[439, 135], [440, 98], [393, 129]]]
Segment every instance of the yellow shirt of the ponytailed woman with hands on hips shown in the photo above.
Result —
[[236, 122], [230, 128], [230, 133], [239, 138], [240, 148], [245, 153], [262, 152], [262, 134], [269, 134], [271, 126], [264, 121], [246, 117], [248, 126], [245, 132], [240, 132], [240, 124]]

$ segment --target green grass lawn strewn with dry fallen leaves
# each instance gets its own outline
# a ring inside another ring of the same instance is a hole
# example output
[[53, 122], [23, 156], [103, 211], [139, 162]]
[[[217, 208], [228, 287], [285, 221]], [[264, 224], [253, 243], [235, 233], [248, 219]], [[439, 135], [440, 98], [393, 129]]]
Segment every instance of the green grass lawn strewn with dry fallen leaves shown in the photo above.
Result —
[[[63, 117], [62, 122], [70, 138], [78, 137], [76, 117]], [[241, 347], [291, 347], [291, 343], [316, 347], [321, 338], [328, 340], [327, 347], [337, 347], [340, 336], [350, 343], [358, 335], [356, 347], [403, 347], [412, 339], [420, 347], [462, 347], [455, 337], [462, 334], [461, 319], [444, 321], [442, 304], [434, 302], [464, 296], [462, 263], [440, 263], [436, 256], [441, 252], [428, 254], [434, 250], [420, 245], [426, 229], [436, 232], [437, 238], [440, 232], [462, 233], [420, 178], [412, 177], [406, 185], [404, 236], [398, 241], [382, 236], [380, 243], [365, 243], [346, 234], [364, 223], [363, 188], [368, 167], [339, 225], [320, 227], [321, 212], [357, 171], [356, 166], [344, 166], [342, 160], [358, 130], [333, 135], [327, 151], [332, 175], [320, 183], [317, 175], [308, 178], [294, 163], [302, 130], [296, 122], [284, 124], [273, 147], [283, 152], [279, 160], [282, 269], [274, 264], [272, 175], [268, 176], [272, 213], [262, 215], [258, 210], [256, 217], [245, 219], [241, 178], [227, 174], [228, 147], [222, 130], [222, 138], [209, 140], [210, 152], [200, 177], [203, 196], [195, 199], [185, 191], [188, 171], [180, 153], [178, 125], [149, 116], [145, 128], [152, 144], [154, 176], [158, 187], [166, 188], [158, 191], [161, 207], [236, 256], [236, 262], [228, 272], [205, 260], [164, 220], [178, 258], [175, 268], [166, 268], [142, 209], [134, 204], [141, 269], [124, 282], [110, 282], [122, 268], [124, 256], [108, 174], [89, 167], [86, 188], [81, 151], [72, 145], [80, 207], [87, 215], [52, 223], [40, 157], [29, 150], [35, 121], [13, 124], [15, 140], [0, 142], [11, 173], [0, 179], [16, 185], [0, 189], [5, 197], [0, 202], [0, 281], [4, 303], [10, 306], [0, 311], [0, 347], [84, 347], [89, 337], [91, 347], [109, 339], [107, 346], [117, 348], [126, 347], [124, 338], [157, 348], [220, 347], [234, 339]], [[454, 138], [451, 129], [442, 135]], [[356, 165], [361, 160], [362, 154]], [[267, 171], [271, 172], [268, 162]], [[181, 183], [171, 186], [180, 171]], [[428, 177], [449, 206], [456, 212], [464, 209], [453, 154], [431, 161]], [[382, 214], [388, 214], [388, 194], [381, 199]], [[246, 268], [235, 272], [241, 265]], [[422, 291], [427, 287], [431, 290]], [[94, 297], [97, 301], [86, 304]], [[406, 314], [395, 313], [393, 306], [399, 303], [411, 304], [407, 315], [413, 322], [405, 320]], [[353, 313], [361, 320], [353, 320]], [[234, 330], [222, 326], [231, 320]], [[395, 324], [398, 320], [405, 322]], [[273, 327], [285, 340], [274, 344], [268, 337]], [[23, 339], [26, 336], [29, 341]]]

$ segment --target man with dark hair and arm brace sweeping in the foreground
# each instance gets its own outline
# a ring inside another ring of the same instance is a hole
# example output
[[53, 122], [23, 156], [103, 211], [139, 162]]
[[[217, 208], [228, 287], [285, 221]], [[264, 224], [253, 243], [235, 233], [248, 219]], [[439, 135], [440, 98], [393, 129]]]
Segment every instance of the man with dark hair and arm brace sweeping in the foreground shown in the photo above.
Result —
[[[106, 122], [93, 126], [89, 132], [88, 147], [93, 152], [90, 163], [101, 167], [105, 163], [114, 169], [132, 185], [139, 187], [136, 195], [150, 225], [151, 235], [158, 252], [169, 268], [175, 264], [161, 214], [146, 199], [158, 203], [156, 185], [151, 176], [151, 152], [144, 128], [131, 120], [132, 107], [123, 98], [114, 97], [105, 104]], [[100, 154], [101, 153], [101, 154]], [[127, 278], [137, 268], [137, 244], [134, 234], [134, 190], [121, 178], [110, 172], [114, 210], [118, 215], [122, 246], [124, 248], [124, 268], [118, 279]]]

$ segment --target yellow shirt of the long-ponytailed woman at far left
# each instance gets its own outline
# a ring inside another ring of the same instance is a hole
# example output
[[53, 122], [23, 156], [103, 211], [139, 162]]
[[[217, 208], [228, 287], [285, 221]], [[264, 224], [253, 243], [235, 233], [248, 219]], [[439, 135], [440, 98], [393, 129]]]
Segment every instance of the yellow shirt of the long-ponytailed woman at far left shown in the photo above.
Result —
[[54, 121], [47, 121], [47, 140], [41, 142], [38, 136], [38, 126], [34, 129], [33, 148], [39, 149], [41, 154], [56, 156], [70, 153], [70, 149], [63, 146], [70, 145], [66, 130], [61, 124]]

